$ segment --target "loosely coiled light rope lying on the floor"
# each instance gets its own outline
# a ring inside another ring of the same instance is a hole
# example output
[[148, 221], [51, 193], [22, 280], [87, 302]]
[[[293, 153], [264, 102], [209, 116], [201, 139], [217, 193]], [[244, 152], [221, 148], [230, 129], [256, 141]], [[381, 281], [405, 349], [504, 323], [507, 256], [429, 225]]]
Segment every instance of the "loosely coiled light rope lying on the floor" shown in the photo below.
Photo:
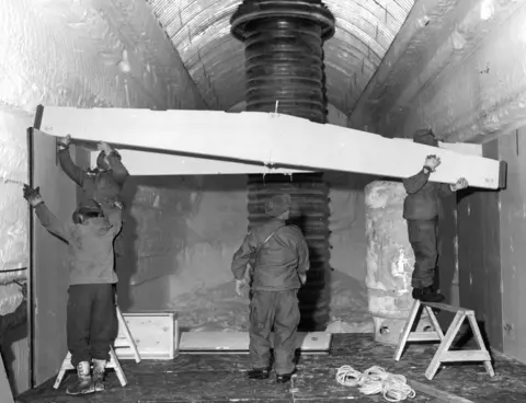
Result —
[[343, 366], [336, 372], [336, 382], [344, 387], [358, 387], [364, 394], [381, 393], [388, 402], [401, 402], [416, 395], [403, 375], [389, 373], [377, 366], [364, 372]]

